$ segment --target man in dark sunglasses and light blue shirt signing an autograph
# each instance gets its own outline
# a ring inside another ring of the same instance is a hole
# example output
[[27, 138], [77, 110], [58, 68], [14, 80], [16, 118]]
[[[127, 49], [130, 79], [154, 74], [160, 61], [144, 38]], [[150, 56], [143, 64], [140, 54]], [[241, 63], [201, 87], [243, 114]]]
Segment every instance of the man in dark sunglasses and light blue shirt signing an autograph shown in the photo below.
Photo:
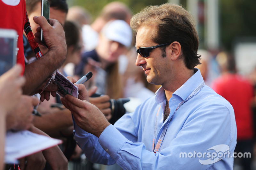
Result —
[[114, 126], [85, 101], [83, 85], [79, 99], [65, 96], [86, 157], [123, 169], [233, 169], [234, 111], [194, 69], [200, 56], [191, 14], [174, 4], [149, 6], [133, 16], [131, 27], [137, 33], [136, 65], [149, 83], [162, 86]]

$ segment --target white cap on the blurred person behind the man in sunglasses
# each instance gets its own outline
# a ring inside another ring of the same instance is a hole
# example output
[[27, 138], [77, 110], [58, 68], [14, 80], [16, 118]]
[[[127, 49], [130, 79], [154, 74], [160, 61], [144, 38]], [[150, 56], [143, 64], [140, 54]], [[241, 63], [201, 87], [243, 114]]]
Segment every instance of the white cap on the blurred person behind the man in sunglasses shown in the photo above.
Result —
[[132, 43], [132, 29], [124, 20], [109, 21], [101, 33], [109, 40], [119, 42], [126, 47]]

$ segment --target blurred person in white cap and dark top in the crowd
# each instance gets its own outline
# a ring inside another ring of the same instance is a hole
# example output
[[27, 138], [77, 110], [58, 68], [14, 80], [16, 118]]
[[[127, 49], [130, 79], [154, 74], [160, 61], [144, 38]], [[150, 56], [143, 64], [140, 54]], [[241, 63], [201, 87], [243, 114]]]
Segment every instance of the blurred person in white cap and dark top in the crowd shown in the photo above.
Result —
[[118, 57], [124, 54], [132, 42], [132, 30], [123, 20], [108, 22], [100, 32], [98, 46], [82, 56], [75, 74], [82, 77], [92, 71], [93, 77], [87, 87], [96, 85], [97, 92], [107, 94], [112, 99], [123, 97], [121, 76], [118, 72]]

